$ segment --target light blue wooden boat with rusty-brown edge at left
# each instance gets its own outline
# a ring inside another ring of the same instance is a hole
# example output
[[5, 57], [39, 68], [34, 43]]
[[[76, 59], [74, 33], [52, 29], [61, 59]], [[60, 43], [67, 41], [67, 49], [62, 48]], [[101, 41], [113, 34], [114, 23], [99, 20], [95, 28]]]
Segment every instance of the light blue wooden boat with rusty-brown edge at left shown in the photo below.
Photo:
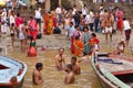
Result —
[[0, 56], [0, 88], [21, 88], [27, 69], [24, 63]]

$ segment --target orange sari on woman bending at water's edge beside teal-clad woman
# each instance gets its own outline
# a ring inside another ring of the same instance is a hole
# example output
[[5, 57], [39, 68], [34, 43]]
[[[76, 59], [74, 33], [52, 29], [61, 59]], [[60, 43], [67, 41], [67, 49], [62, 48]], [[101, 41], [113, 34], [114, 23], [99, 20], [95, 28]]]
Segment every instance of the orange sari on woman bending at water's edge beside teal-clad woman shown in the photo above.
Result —
[[75, 40], [73, 44], [74, 44], [74, 55], [79, 56], [84, 50], [84, 44], [80, 40], [78, 41]]

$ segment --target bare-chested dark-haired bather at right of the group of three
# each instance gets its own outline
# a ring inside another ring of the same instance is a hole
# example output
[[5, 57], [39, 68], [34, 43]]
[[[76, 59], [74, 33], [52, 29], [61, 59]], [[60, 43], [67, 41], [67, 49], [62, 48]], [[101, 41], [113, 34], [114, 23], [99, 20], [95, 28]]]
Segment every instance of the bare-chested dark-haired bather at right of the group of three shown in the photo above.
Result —
[[80, 74], [81, 74], [81, 68], [80, 68], [80, 66], [76, 64], [76, 57], [72, 57], [72, 58], [71, 58], [71, 64], [72, 64], [73, 73], [74, 73], [75, 75], [80, 75]]

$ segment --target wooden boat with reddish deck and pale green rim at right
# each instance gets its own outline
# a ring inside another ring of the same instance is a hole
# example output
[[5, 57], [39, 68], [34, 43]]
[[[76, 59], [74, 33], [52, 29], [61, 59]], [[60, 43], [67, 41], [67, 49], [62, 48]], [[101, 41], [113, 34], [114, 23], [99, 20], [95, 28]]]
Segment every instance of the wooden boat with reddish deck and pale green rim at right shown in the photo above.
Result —
[[91, 59], [104, 88], [133, 88], [133, 63], [112, 54], [98, 54]]

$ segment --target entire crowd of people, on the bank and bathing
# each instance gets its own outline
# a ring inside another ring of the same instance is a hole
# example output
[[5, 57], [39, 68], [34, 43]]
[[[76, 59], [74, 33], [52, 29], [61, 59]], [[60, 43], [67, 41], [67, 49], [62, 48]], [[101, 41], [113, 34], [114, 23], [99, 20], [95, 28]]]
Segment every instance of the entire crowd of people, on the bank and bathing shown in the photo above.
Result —
[[[73, 9], [58, 7], [52, 11], [44, 11], [44, 13], [41, 13], [41, 8], [38, 8], [34, 14], [29, 16], [29, 20], [24, 20], [20, 13], [3, 9], [0, 18], [1, 34], [7, 34], [9, 28], [12, 48], [16, 48], [14, 42], [16, 38], [19, 38], [21, 52], [25, 52], [29, 57], [33, 57], [37, 56], [35, 40], [38, 34], [41, 32], [51, 35], [61, 32], [60, 25], [63, 25], [65, 36], [69, 38], [68, 45], [73, 56], [71, 57], [71, 64], [65, 64], [64, 48], [59, 48], [59, 54], [55, 56], [55, 67], [58, 70], [68, 73], [64, 78], [65, 84], [74, 82], [74, 75], [81, 74], [78, 62], [88, 61], [90, 59], [89, 56], [100, 52], [98, 32], [105, 35], [106, 44], [113, 41], [112, 34], [116, 31], [120, 31], [121, 34], [125, 32], [125, 40], [121, 40], [119, 43], [116, 54], [124, 53], [124, 48], [129, 46], [133, 22], [124, 16], [122, 9], [119, 7], [111, 6], [105, 9], [101, 4], [95, 11], [93, 9], [88, 11], [85, 4], [81, 11], [78, 11], [76, 6]], [[76, 57], [81, 56], [83, 58], [76, 61]], [[37, 63], [32, 75], [35, 85], [43, 82], [42, 69], [43, 64]]]

